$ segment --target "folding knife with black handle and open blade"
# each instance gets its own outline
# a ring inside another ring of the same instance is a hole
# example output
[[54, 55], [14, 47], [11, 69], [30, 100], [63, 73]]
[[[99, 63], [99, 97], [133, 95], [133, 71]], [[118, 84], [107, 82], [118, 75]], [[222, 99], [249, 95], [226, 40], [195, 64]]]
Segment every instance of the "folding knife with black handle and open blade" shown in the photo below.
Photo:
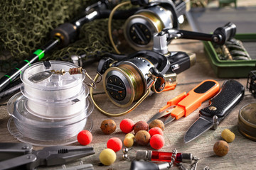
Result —
[[188, 128], [184, 142], [191, 142], [210, 128], [217, 129], [218, 124], [238, 105], [244, 94], [245, 88], [238, 81], [225, 81], [220, 92], [210, 99], [210, 105], [199, 111], [200, 117]]

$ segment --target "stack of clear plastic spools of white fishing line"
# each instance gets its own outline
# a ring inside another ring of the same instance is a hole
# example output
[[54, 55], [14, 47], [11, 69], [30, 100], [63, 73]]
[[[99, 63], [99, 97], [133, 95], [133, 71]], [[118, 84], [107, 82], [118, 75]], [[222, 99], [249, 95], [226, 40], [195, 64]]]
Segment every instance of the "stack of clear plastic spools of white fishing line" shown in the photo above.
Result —
[[[71, 68], [71, 69], [70, 69]], [[33, 145], [68, 145], [76, 142], [76, 136], [84, 128], [92, 128], [88, 116], [93, 104], [87, 98], [89, 89], [85, 85], [85, 74], [69, 62], [38, 62], [21, 73], [21, 92], [8, 102], [11, 118], [9, 132], [22, 142]], [[68, 70], [70, 73], [54, 72], [41, 81], [31, 77], [52, 70]], [[86, 126], [86, 127], [85, 127]]]

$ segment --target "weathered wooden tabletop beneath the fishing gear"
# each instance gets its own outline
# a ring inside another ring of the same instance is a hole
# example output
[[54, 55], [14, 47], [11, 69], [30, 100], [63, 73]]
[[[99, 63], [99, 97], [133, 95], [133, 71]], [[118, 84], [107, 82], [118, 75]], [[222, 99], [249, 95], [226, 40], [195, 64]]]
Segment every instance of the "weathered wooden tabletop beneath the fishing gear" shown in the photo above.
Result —
[[[117, 129], [111, 135], [105, 135], [100, 130], [100, 124], [102, 120], [109, 119], [106, 115], [103, 115], [95, 108], [90, 118], [93, 120], [92, 135], [93, 140], [90, 146], [95, 148], [95, 154], [90, 157], [85, 157], [82, 159], [84, 164], [90, 163], [94, 165], [94, 169], [129, 169], [130, 162], [122, 160], [122, 151], [117, 152], [117, 160], [114, 164], [110, 166], [100, 165], [98, 159], [102, 149], [107, 148], [107, 140], [110, 137], [119, 137], [121, 140], [124, 140], [124, 133], [119, 128], [119, 123], [124, 118], [130, 118], [134, 122], [139, 120], [149, 120], [152, 115], [159, 111], [159, 108], [166, 105], [166, 102], [171, 98], [178, 96], [182, 92], [190, 91], [199, 84], [201, 81], [206, 79], [214, 79], [219, 82], [220, 86], [223, 84], [225, 79], [218, 79], [215, 76], [213, 69], [208, 63], [206, 54], [203, 50], [203, 43], [196, 40], [175, 40], [169, 45], [169, 50], [177, 51], [182, 50], [185, 52], [195, 52], [197, 62], [190, 69], [178, 74], [178, 85], [174, 91], [166, 91], [161, 94], [153, 94], [146, 98], [141, 105], [138, 106], [134, 111], [123, 115], [121, 117], [113, 117], [112, 120], [117, 123]], [[87, 72], [94, 77], [97, 63], [85, 67]], [[246, 86], [247, 79], [236, 79], [243, 86]], [[109, 112], [119, 113], [124, 111], [122, 108], [117, 108], [114, 106], [103, 93], [102, 85], [97, 86], [95, 90], [95, 100], [97, 103]], [[172, 152], [174, 148], [178, 149], [178, 152], [186, 152], [196, 155], [200, 158], [198, 162], [198, 169], [203, 169], [204, 166], [209, 166], [210, 169], [255, 169], [256, 168], [256, 143], [252, 140], [240, 135], [238, 132], [238, 112], [242, 106], [245, 104], [255, 101], [250, 93], [246, 90], [245, 98], [239, 105], [228, 115], [225, 120], [218, 126], [217, 130], [208, 130], [208, 132], [198, 137], [196, 140], [189, 142], [188, 144], [183, 143], [183, 136], [185, 135], [186, 130], [191, 126], [191, 124], [198, 118], [199, 109], [208, 105], [208, 102], [203, 103], [203, 105], [198, 108], [196, 111], [188, 115], [186, 118], [181, 118], [179, 120], [174, 120], [173, 123], [166, 125], [164, 130], [164, 140], [165, 145], [160, 151]], [[1, 106], [0, 108], [0, 142], [18, 142], [12, 135], [9, 134], [9, 131], [6, 128], [7, 121], [9, 120], [9, 114], [6, 111], [6, 106]], [[221, 140], [221, 132], [228, 128], [229, 130], [235, 133], [235, 141], [229, 144], [230, 151], [225, 157], [218, 157], [213, 152], [213, 145], [218, 140]], [[79, 145], [78, 142], [73, 145]], [[134, 149], [152, 149], [150, 146], [142, 147], [139, 145], [134, 145]], [[34, 149], [41, 149], [41, 147], [34, 147]], [[67, 164], [69, 167], [71, 165], [78, 165], [78, 162], [73, 162]], [[190, 168], [189, 164], [185, 164]], [[38, 169], [60, 169], [61, 166], [53, 167], [40, 167]], [[174, 166], [172, 169], [178, 169], [177, 166]]]

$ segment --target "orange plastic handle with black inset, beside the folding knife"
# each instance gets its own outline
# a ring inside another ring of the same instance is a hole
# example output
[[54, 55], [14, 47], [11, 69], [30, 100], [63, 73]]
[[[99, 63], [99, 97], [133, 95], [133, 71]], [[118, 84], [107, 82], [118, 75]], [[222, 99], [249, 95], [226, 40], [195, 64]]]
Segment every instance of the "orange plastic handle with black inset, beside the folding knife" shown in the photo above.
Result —
[[176, 108], [171, 112], [171, 115], [176, 119], [183, 115], [186, 117], [201, 106], [203, 101], [215, 96], [220, 90], [220, 85], [215, 80], [202, 81], [198, 86], [188, 92], [185, 98], [176, 104]]

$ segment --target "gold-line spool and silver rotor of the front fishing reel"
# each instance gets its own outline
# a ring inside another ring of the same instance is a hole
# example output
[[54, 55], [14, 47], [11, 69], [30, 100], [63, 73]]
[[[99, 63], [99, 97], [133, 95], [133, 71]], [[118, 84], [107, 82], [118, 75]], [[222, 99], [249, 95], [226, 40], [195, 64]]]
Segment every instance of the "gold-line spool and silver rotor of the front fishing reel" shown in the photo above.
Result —
[[149, 68], [154, 65], [144, 57], [124, 61], [117, 67], [110, 67], [104, 74], [103, 86], [112, 103], [127, 107], [145, 94]]

